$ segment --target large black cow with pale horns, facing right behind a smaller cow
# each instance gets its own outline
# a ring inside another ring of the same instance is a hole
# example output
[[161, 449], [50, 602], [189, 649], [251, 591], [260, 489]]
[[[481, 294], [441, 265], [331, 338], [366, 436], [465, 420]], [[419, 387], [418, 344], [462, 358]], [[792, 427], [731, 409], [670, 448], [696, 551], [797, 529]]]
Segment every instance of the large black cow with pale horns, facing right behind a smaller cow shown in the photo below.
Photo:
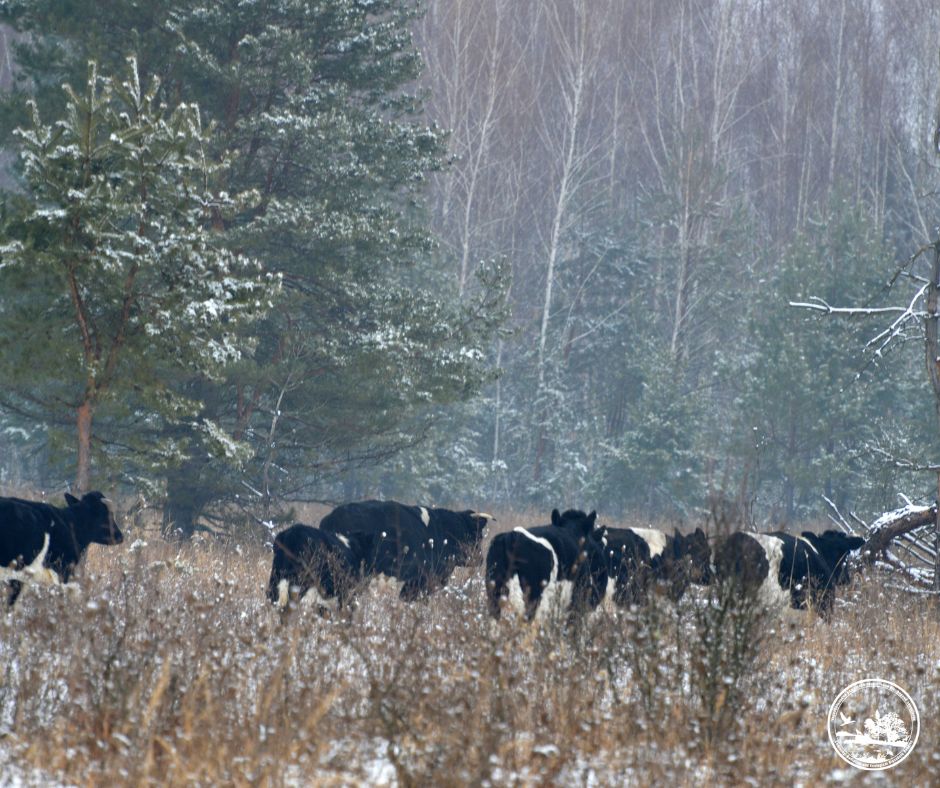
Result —
[[395, 501], [360, 501], [337, 506], [320, 521], [323, 531], [369, 538], [364, 571], [401, 581], [400, 596], [414, 600], [447, 585], [457, 566], [466, 566], [483, 539], [492, 515], [454, 512]]

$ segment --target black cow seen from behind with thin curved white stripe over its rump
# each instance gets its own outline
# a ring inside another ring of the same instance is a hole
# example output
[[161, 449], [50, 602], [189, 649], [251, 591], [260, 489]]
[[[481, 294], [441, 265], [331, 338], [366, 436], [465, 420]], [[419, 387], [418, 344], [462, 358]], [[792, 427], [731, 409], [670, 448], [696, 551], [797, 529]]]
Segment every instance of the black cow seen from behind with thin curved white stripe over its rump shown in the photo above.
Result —
[[552, 510], [552, 524], [497, 534], [486, 554], [487, 608], [504, 602], [531, 621], [596, 608], [607, 589], [607, 563], [591, 539], [597, 513]]

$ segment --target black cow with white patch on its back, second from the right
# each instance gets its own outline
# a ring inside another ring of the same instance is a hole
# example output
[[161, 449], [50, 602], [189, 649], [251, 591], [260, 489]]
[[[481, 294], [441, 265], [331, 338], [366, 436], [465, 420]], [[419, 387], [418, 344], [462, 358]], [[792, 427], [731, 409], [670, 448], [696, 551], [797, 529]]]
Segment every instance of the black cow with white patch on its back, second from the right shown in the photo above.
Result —
[[674, 602], [691, 583], [711, 581], [711, 549], [701, 528], [683, 535], [654, 528], [609, 528], [594, 530], [592, 537], [604, 550], [607, 561], [608, 595], [618, 605], [644, 604], [651, 583], [665, 588]]

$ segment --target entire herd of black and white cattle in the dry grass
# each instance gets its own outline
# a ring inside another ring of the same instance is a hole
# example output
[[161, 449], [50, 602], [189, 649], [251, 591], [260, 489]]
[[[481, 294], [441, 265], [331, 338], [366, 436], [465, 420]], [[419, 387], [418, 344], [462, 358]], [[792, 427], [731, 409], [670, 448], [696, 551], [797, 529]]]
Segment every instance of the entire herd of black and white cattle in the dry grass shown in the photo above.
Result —
[[[90, 544], [123, 541], [100, 492], [65, 500], [57, 507], [0, 498], [0, 582], [10, 606], [26, 582], [67, 583]], [[379, 576], [397, 581], [404, 600], [426, 596], [473, 561], [493, 519], [394, 501], [343, 504], [318, 528], [298, 523], [277, 535], [268, 597], [281, 610], [303, 599], [322, 611], [347, 605]], [[849, 582], [847, 557], [863, 544], [832, 530], [739, 531], [709, 540], [700, 528], [687, 535], [609, 528], [598, 525], [595, 512], [555, 509], [548, 525], [490, 541], [486, 603], [494, 618], [509, 606], [532, 620], [548, 611], [591, 611], [605, 599], [642, 605], [654, 587], [677, 601], [691, 584], [730, 580], [768, 606], [825, 615], [835, 587]]]

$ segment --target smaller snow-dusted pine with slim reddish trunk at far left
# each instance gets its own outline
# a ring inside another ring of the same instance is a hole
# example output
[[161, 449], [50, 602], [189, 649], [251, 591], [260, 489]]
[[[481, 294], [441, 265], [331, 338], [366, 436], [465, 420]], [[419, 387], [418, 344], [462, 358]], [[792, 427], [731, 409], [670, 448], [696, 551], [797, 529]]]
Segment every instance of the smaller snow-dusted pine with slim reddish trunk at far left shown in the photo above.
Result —
[[[158, 81], [142, 84], [133, 59], [127, 70], [115, 81], [91, 63], [52, 124], [31, 105], [16, 132], [27, 191], [0, 265], [5, 396], [36, 420], [71, 422], [79, 490], [95, 448], [151, 467], [178, 462], [198, 436], [235, 450], [171, 383], [237, 361], [249, 349], [239, 325], [270, 308], [278, 284], [212, 237], [211, 217], [237, 205], [207, 191], [217, 166], [198, 107], [169, 109]], [[186, 424], [191, 437], [151, 443], [159, 423]], [[118, 442], [132, 425], [144, 441]]]

